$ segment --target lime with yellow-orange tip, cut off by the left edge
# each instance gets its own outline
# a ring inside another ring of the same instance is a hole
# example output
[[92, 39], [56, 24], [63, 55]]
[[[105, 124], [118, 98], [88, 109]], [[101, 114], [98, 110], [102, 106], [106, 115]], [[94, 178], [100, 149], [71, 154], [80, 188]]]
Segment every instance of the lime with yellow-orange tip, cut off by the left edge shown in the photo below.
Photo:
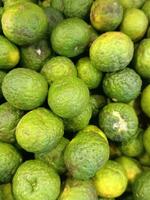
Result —
[[0, 36], [0, 52], [0, 69], [9, 70], [18, 64], [20, 60], [19, 50], [4, 36]]

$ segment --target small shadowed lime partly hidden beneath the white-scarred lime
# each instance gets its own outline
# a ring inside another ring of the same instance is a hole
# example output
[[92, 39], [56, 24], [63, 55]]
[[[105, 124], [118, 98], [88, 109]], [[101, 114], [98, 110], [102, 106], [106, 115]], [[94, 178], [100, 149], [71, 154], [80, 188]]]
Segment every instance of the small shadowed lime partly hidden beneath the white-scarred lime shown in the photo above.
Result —
[[144, 151], [143, 130], [138, 129], [138, 135], [127, 142], [121, 143], [120, 150], [129, 157], [140, 156]]

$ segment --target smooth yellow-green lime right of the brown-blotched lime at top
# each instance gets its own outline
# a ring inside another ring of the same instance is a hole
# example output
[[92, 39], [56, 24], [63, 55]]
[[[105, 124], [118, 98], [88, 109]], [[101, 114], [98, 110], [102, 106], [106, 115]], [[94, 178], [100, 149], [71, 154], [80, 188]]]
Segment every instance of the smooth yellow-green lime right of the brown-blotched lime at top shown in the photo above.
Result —
[[137, 42], [143, 38], [147, 27], [148, 18], [144, 12], [137, 8], [131, 8], [126, 10], [120, 30]]

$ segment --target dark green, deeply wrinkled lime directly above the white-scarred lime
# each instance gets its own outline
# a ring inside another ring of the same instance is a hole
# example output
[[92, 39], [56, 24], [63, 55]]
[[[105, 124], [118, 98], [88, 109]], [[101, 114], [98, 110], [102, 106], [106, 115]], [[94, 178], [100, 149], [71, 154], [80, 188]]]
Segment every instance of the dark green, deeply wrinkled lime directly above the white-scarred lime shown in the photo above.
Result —
[[103, 79], [103, 90], [113, 101], [126, 103], [136, 99], [140, 94], [141, 87], [140, 76], [130, 68], [107, 73]]

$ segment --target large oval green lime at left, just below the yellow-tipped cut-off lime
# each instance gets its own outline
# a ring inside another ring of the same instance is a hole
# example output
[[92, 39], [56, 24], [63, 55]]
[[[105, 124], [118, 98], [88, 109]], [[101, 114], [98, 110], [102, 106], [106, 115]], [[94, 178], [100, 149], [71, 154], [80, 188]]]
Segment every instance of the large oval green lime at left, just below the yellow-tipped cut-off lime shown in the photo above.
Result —
[[21, 110], [32, 110], [44, 103], [48, 83], [34, 70], [16, 68], [5, 76], [2, 92], [12, 106]]

